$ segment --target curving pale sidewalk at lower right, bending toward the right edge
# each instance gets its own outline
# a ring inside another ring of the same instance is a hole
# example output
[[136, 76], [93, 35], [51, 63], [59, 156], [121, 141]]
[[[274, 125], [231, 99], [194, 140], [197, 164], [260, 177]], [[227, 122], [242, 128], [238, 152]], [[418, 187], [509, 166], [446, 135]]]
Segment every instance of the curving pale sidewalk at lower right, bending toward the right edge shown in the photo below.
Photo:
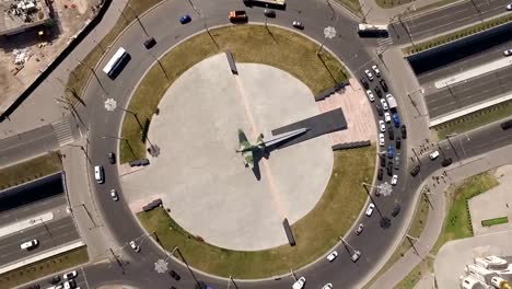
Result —
[[[441, 232], [444, 216], [445, 216], [445, 199], [444, 190], [449, 184], [459, 182], [468, 176], [488, 171], [490, 169], [512, 163], [512, 144], [501, 149], [491, 151], [485, 155], [478, 155], [467, 161], [462, 162], [458, 166], [446, 170], [450, 182], [441, 183], [431, 187], [433, 197], [431, 198], [433, 208], [431, 207], [427, 218], [426, 227], [415, 243], [418, 255], [414, 248], [409, 250], [404, 257], [396, 262], [385, 274], [383, 274], [371, 288], [393, 288], [402, 281], [427, 255], [430, 255], [430, 250], [438, 241]], [[454, 164], [455, 165], [455, 164]], [[431, 182], [431, 178], [429, 180]], [[375, 285], [379, 284], [379, 287]]]

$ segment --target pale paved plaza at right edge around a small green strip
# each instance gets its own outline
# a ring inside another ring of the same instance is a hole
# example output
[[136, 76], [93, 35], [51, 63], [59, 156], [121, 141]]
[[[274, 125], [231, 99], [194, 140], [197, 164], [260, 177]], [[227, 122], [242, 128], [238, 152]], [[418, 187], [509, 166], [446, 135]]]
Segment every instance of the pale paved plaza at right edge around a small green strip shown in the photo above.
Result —
[[[469, 199], [473, 231], [475, 235], [512, 230], [512, 165], [498, 167], [493, 174], [500, 184]], [[481, 221], [499, 217], [509, 217], [509, 223], [482, 227]]]

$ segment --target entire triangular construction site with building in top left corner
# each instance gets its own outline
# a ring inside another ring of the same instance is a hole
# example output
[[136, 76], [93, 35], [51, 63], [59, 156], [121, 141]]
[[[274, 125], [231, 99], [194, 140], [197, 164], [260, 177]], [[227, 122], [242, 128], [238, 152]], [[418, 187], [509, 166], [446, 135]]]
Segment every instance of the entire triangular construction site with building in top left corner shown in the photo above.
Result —
[[94, 18], [103, 0], [0, 1], [0, 111]]

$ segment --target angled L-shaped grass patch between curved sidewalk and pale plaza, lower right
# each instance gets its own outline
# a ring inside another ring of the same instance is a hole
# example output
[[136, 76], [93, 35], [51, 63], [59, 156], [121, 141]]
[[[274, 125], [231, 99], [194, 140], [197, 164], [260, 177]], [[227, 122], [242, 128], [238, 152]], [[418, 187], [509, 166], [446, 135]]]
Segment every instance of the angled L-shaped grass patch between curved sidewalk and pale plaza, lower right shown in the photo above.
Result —
[[444, 219], [443, 230], [432, 248], [432, 254], [437, 255], [441, 246], [452, 240], [473, 236], [472, 219], [467, 200], [474, 196], [485, 193], [499, 183], [496, 177], [486, 172], [470, 176], [462, 184], [450, 187], [447, 193], [447, 213]]

